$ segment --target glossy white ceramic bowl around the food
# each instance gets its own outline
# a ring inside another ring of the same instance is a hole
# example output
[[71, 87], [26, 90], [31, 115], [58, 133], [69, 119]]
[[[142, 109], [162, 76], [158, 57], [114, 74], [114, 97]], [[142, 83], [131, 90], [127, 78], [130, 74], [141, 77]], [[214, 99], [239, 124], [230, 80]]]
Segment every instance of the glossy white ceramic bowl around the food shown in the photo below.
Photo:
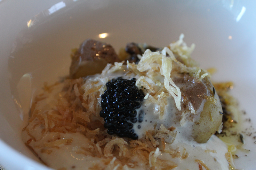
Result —
[[[118, 51], [131, 41], [163, 47], [184, 33], [201, 66], [217, 68], [215, 81], [235, 83], [232, 94], [256, 127], [255, 9], [256, 1], [242, 0], [0, 0], [0, 163], [7, 170], [49, 169], [22, 143], [21, 129], [31, 97], [44, 81], [68, 74], [70, 50], [87, 38]], [[238, 169], [254, 169], [254, 135], [245, 136], [251, 152], [236, 159]]]

